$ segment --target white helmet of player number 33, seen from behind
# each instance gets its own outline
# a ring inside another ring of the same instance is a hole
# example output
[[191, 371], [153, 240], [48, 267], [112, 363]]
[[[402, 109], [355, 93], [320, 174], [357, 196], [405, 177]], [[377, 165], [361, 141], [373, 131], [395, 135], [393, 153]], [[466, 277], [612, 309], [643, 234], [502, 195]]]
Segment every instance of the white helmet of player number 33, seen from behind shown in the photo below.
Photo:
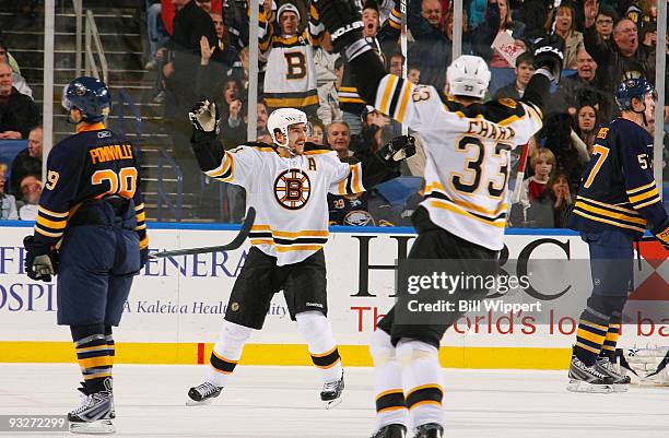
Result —
[[490, 78], [490, 70], [482, 58], [462, 55], [446, 70], [448, 94], [483, 98]]

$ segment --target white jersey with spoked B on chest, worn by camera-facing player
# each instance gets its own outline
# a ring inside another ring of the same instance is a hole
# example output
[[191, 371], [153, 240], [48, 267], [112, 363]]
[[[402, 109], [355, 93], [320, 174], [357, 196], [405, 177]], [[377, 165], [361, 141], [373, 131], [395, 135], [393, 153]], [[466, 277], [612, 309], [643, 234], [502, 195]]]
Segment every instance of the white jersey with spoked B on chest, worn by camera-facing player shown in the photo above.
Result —
[[325, 246], [328, 193], [365, 190], [360, 163], [342, 163], [336, 152], [315, 145], [291, 158], [262, 143], [220, 151], [218, 167], [204, 173], [246, 189], [246, 204], [256, 209], [250, 242], [278, 265], [297, 263]]

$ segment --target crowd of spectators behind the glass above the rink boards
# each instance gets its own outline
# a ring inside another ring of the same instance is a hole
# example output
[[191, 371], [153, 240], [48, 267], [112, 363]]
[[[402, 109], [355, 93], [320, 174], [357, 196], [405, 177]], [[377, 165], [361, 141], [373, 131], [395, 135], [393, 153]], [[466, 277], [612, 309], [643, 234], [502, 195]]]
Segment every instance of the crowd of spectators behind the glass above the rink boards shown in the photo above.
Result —
[[[407, 69], [410, 81], [445, 91], [454, 40], [451, 2], [407, 2], [406, 50], [400, 44], [401, 14], [396, 1], [362, 3], [364, 35], [388, 71], [401, 75]], [[342, 161], [360, 159], [402, 133], [401, 126], [360, 98], [347, 59], [332, 51], [330, 35], [308, 0], [260, 0], [258, 42], [249, 42], [249, 15], [245, 0], [145, 0], [145, 68], [157, 73], [153, 98], [164, 104], [165, 127], [185, 191], [200, 193], [199, 208], [189, 212], [193, 217], [234, 222], [244, 214], [242, 190], [232, 186], [214, 189], [216, 185], [201, 176], [184, 115], [196, 100], [212, 99], [221, 113], [225, 147], [247, 141], [250, 44], [260, 49], [257, 132], [251, 140], [271, 143], [268, 115], [284, 106], [305, 110], [313, 127], [309, 141], [331, 147]], [[658, 45], [656, 15], [657, 0], [463, 1], [462, 52], [480, 56], [491, 67], [493, 81], [486, 99], [521, 98], [533, 72], [529, 48], [535, 38], [556, 33], [565, 40], [565, 72], [553, 90], [544, 128], [528, 145], [526, 179], [512, 181], [523, 185], [520, 202], [510, 214], [513, 226], [564, 226], [598, 127], [618, 115], [617, 84], [633, 76], [655, 82], [656, 50], [669, 54], [669, 44]], [[16, 61], [0, 42], [0, 139], [28, 140], [11, 169], [0, 169], [3, 174], [11, 170], [11, 181], [0, 186], [3, 217], [20, 216], [21, 206], [30, 216], [39, 182], [37, 139], [42, 131], [36, 128], [39, 110], [31, 95]], [[665, 108], [667, 123], [666, 104]], [[661, 121], [657, 125], [662, 129]], [[409, 224], [420, 199], [420, 185], [413, 181], [422, 176], [424, 166], [420, 138], [418, 145], [418, 154], [398, 174], [411, 181], [397, 186], [404, 192], [369, 188], [360, 197], [331, 197], [331, 222]], [[517, 165], [515, 158], [513, 165]], [[20, 205], [5, 208], [12, 197]], [[210, 197], [219, 197], [223, 205], [214, 205]]]

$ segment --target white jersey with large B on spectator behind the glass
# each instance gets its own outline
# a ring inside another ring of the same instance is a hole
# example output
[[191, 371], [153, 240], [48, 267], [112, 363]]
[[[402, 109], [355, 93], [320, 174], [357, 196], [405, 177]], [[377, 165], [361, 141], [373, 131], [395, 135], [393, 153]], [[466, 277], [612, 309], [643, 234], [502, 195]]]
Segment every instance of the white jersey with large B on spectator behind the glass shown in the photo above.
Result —
[[298, 108], [315, 114], [318, 107], [314, 46], [320, 44], [325, 27], [310, 8], [308, 27], [300, 35], [274, 34], [274, 20], [268, 20], [259, 47], [267, 58], [263, 98], [269, 108]]

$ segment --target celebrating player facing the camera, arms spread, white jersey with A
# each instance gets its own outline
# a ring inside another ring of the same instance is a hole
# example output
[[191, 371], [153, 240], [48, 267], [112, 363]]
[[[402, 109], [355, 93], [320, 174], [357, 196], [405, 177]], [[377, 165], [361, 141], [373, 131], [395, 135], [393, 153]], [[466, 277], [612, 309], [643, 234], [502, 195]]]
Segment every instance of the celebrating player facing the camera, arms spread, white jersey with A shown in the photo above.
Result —
[[221, 335], [210, 357], [206, 381], [188, 392], [187, 404], [219, 396], [254, 330], [262, 329], [272, 296], [283, 289], [291, 318], [319, 368], [326, 407], [341, 402], [343, 370], [327, 319], [326, 264], [328, 192], [353, 194], [395, 175], [396, 161], [415, 153], [410, 138], [388, 143], [361, 163], [339, 161], [329, 149], [307, 143], [306, 115], [294, 108], [274, 110], [268, 129], [274, 144], [247, 143], [224, 151], [216, 140], [214, 104], [201, 102], [190, 113], [192, 147], [211, 178], [242, 186], [257, 211], [249, 234], [251, 249], [233, 287]]

